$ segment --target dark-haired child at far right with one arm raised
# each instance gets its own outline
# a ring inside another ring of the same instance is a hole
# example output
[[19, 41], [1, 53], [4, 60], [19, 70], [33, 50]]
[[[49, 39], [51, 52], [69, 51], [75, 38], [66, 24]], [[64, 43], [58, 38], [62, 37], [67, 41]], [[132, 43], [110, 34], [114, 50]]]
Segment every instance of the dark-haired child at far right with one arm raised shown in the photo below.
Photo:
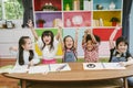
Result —
[[[110, 36], [110, 61], [113, 63], [120, 63], [122, 66], [133, 65], [133, 57], [129, 53], [129, 43], [125, 37], [120, 36], [116, 38], [114, 44], [114, 37], [117, 31], [121, 28], [119, 25], [115, 26], [114, 31]], [[133, 86], [133, 77], [127, 77], [127, 81], [130, 86]]]

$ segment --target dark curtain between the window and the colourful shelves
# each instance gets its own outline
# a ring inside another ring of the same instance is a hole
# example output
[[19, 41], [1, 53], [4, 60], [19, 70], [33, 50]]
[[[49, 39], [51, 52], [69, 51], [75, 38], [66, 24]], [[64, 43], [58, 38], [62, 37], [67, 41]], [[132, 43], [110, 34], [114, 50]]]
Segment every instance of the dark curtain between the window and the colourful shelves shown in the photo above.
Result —
[[22, 28], [28, 26], [28, 20], [33, 21], [33, 9], [32, 9], [32, 0], [22, 0], [23, 6], [23, 24]]

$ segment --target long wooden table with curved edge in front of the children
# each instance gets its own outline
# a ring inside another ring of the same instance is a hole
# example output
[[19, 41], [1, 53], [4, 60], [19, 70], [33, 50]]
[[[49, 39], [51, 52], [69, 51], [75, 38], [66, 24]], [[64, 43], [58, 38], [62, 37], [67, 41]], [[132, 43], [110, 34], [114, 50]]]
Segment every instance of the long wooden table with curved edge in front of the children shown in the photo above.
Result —
[[124, 79], [124, 88], [127, 88], [126, 77], [133, 76], [133, 65], [126, 69], [99, 69], [83, 70], [82, 63], [69, 63], [70, 72], [55, 72], [43, 74], [3, 74], [7, 77], [22, 80], [22, 88], [25, 88], [27, 80], [43, 81], [43, 82], [76, 82], [76, 81], [95, 81], [104, 79]]

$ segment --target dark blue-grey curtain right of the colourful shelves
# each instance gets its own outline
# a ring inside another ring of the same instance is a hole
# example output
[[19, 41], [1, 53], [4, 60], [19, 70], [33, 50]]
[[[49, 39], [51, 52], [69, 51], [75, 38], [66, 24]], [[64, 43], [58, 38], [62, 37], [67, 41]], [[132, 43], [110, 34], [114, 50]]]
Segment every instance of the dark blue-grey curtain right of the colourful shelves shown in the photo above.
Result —
[[130, 40], [130, 13], [132, 8], [132, 0], [123, 0], [123, 21], [122, 35]]

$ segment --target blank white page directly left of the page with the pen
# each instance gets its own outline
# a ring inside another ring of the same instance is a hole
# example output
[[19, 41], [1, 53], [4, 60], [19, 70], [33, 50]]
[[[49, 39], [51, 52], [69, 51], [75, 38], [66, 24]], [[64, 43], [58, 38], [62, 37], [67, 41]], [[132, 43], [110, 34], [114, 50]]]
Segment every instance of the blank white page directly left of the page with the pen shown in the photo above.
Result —
[[49, 72], [48, 65], [32, 66], [29, 68], [29, 74], [43, 74], [48, 72]]

